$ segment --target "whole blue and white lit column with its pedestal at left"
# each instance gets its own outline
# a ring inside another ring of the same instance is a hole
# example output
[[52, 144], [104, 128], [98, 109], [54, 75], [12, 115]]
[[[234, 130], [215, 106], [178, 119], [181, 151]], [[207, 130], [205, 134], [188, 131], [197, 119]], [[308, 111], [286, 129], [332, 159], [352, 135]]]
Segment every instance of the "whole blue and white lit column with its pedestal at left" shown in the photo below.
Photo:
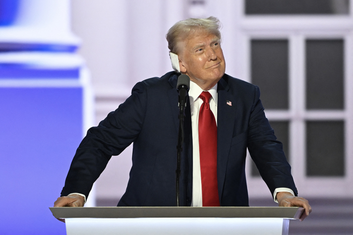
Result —
[[69, 10], [69, 0], [0, 0], [2, 235], [66, 234], [49, 207], [92, 115]]

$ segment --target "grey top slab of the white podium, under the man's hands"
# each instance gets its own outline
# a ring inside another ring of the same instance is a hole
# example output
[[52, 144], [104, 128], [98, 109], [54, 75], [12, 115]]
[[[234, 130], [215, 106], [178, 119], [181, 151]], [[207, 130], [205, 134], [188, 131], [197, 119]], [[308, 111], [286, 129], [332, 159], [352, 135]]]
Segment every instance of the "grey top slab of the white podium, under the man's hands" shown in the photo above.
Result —
[[55, 218], [292, 218], [301, 207], [49, 207]]

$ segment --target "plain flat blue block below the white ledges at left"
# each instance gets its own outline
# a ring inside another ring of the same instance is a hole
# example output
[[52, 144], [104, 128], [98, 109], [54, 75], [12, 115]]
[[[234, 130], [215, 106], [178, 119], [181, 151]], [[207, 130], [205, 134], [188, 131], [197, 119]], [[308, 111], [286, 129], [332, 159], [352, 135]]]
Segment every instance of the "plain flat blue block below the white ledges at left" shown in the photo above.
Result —
[[82, 88], [0, 88], [1, 234], [66, 234], [48, 207], [82, 139]]

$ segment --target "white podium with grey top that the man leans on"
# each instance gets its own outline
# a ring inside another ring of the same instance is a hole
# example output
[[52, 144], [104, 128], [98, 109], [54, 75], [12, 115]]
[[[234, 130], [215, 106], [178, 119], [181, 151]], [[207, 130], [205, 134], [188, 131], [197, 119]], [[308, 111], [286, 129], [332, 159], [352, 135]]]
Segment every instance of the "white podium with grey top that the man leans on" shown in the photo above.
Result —
[[299, 207], [50, 207], [80, 234], [288, 234]]

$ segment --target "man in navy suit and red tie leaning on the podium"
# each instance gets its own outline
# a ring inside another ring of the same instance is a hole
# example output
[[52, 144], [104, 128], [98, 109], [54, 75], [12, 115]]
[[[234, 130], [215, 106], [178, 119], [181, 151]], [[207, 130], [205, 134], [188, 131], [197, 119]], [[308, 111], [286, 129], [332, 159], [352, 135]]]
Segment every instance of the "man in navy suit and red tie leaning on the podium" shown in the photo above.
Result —
[[[175, 206], [177, 79], [190, 77], [182, 152], [182, 206], [249, 206], [246, 149], [279, 206], [305, 208], [265, 117], [257, 86], [225, 74], [218, 19], [188, 19], [166, 35], [173, 68], [135, 85], [132, 95], [88, 130], [54, 206], [83, 206], [112, 155], [132, 142], [133, 165], [118, 206]], [[176, 62], [175, 63], [175, 58]], [[179, 73], [180, 72], [180, 73]], [[190, 105], [188, 105], [190, 104]], [[206, 160], [205, 160], [206, 159]]]

